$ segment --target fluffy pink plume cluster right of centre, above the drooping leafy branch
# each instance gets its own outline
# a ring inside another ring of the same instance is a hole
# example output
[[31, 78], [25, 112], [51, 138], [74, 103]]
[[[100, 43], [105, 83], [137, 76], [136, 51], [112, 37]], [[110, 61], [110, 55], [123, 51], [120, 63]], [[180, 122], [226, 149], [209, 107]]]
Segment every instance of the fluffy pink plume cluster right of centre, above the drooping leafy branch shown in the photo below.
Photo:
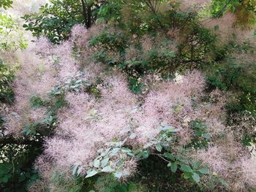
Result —
[[[192, 96], [200, 96], [205, 87], [203, 74], [194, 71], [187, 74], [181, 82], [160, 82], [155, 90], [148, 93], [139, 115], [138, 134], [140, 142], [146, 142], [158, 134], [159, 123], [165, 122], [177, 128], [184, 144], [189, 141], [191, 131], [184, 122], [192, 117]], [[195, 119], [192, 117], [192, 119]]]

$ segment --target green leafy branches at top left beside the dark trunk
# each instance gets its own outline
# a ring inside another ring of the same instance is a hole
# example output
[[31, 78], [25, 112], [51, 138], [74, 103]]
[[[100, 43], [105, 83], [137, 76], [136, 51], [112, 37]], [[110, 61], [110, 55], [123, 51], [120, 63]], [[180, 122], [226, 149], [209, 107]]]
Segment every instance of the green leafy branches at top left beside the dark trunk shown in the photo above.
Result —
[[50, 0], [40, 8], [39, 14], [24, 15], [28, 24], [23, 27], [32, 31], [34, 36], [45, 35], [52, 42], [67, 39], [72, 26], [84, 23], [87, 28], [94, 23], [94, 11], [104, 1], [91, 0]]

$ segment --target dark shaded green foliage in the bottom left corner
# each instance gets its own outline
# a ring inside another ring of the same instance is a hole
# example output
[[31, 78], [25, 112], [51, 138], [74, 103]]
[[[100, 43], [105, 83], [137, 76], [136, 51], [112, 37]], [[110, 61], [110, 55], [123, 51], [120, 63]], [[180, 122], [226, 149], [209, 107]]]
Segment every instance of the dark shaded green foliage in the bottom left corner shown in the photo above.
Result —
[[26, 188], [39, 179], [33, 164], [41, 150], [33, 145], [1, 146], [0, 190], [26, 192]]

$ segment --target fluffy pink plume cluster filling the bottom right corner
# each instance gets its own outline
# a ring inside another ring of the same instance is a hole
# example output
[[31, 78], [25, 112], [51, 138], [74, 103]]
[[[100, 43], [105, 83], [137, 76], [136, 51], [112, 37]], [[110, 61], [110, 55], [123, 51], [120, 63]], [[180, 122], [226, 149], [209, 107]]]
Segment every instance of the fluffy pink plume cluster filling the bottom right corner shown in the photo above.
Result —
[[[256, 159], [233, 140], [231, 134], [225, 141], [218, 139], [214, 146], [199, 150], [192, 155], [197, 161], [206, 164], [214, 175], [222, 177], [229, 185], [230, 191], [248, 191], [254, 188]], [[220, 186], [221, 187], [221, 186]]]

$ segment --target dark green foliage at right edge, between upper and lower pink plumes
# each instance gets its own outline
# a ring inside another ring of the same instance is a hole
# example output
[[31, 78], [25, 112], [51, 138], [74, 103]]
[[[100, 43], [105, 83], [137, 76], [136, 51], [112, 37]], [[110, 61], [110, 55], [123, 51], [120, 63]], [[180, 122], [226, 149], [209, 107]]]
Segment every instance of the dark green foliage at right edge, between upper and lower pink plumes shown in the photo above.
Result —
[[208, 83], [212, 88], [236, 93], [238, 102], [229, 105], [230, 110], [247, 110], [256, 115], [256, 67], [255, 64], [244, 64], [233, 58], [225, 59], [214, 72], [208, 74]]

